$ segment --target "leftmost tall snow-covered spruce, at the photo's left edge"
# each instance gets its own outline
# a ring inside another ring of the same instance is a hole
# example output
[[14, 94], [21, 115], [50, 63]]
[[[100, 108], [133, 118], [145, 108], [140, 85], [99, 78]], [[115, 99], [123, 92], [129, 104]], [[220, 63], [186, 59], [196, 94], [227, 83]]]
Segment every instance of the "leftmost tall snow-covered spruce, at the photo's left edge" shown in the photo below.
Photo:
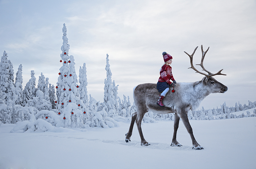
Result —
[[[14, 87], [14, 71], [13, 64], [7, 59], [7, 53], [4, 51], [0, 62], [0, 85], [3, 99], [6, 104], [5, 111], [1, 111], [0, 121], [3, 123], [11, 123], [14, 105], [17, 100], [16, 90]], [[3, 105], [3, 107], [5, 107]]]

